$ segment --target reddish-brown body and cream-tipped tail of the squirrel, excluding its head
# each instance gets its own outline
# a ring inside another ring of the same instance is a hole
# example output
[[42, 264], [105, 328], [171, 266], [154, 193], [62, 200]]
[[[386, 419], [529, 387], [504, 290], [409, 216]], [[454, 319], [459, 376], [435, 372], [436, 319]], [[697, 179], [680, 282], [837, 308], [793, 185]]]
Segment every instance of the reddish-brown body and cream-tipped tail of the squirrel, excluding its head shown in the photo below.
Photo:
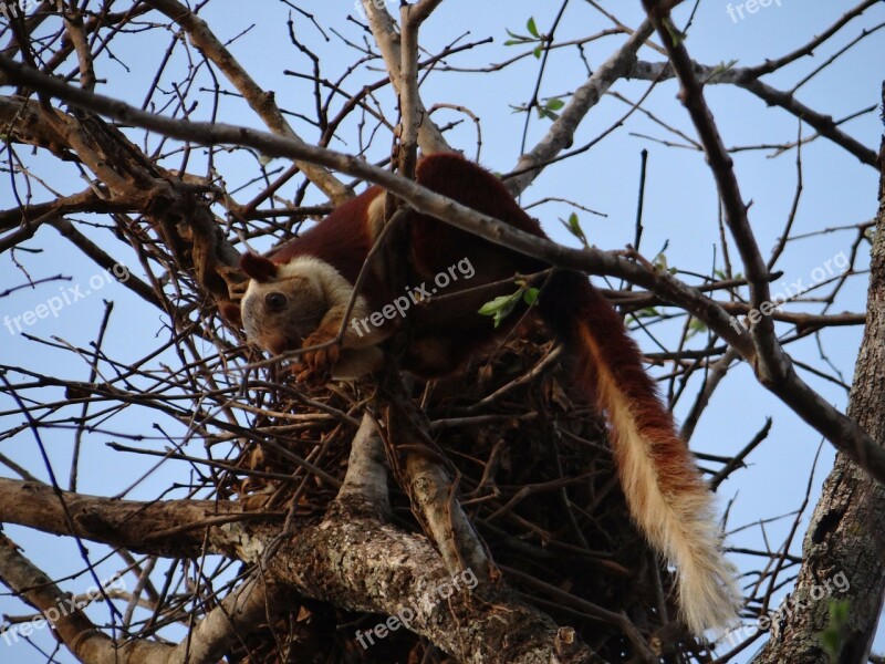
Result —
[[[546, 237], [497, 177], [460, 155], [424, 158], [417, 181], [520, 230]], [[367, 211], [379, 195], [379, 189], [372, 188], [341, 206], [284, 246], [273, 260], [283, 263], [305, 255], [322, 258], [353, 283], [372, 246]], [[446, 298], [437, 302], [431, 298], [429, 305], [415, 307], [407, 317], [412, 343], [403, 357], [404, 369], [428, 377], [444, 375], [457, 371], [480, 346], [510, 332], [519, 320], [516, 311], [494, 330], [487, 317], [477, 313], [483, 302], [513, 292], [512, 284], [479, 292], [473, 289], [518, 272], [540, 272], [548, 266], [426, 215], [413, 214], [410, 224], [415, 279], [431, 280], [464, 259], [476, 270], [472, 279], [446, 290]], [[407, 286], [416, 283], [403, 288]], [[375, 307], [402, 292], [391, 293], [379, 279], [367, 280], [363, 290]], [[586, 276], [568, 270], [555, 271], [546, 280], [538, 309], [573, 357], [577, 387], [608, 417], [631, 511], [652, 543], [677, 564], [687, 623], [696, 633], [723, 625], [737, 600], [731, 568], [719, 552], [710, 497], [621, 318]]]

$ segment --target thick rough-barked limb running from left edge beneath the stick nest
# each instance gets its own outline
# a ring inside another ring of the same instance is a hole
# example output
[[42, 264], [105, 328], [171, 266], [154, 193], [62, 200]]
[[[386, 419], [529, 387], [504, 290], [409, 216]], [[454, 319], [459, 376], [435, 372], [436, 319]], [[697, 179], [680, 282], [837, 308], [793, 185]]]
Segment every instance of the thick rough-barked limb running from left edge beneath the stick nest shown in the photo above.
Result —
[[[135, 502], [56, 494], [46, 485], [0, 479], [2, 522], [54, 535], [75, 533], [163, 556], [194, 554], [199, 547], [205, 552], [263, 563], [263, 581], [283, 591], [293, 590], [352, 611], [399, 616], [398, 626], [386, 630], [379, 623], [379, 630], [363, 634], [366, 640], [383, 639], [387, 631], [408, 623], [407, 629], [428, 637], [459, 662], [603, 664], [574, 630], [558, 627], [506, 587], [476, 585], [476, 577], [469, 573], [450, 577], [423, 537], [383, 525], [374, 517], [355, 515], [341, 504], [317, 525], [293, 523], [292, 537], [285, 541], [279, 539], [278, 526], [267, 523], [272, 518], [242, 513], [240, 506], [225, 501]], [[4, 582], [19, 589], [32, 584], [27, 580]], [[251, 606], [248, 613], [254, 611]], [[211, 632], [214, 623], [206, 625], [207, 633]], [[84, 624], [73, 625], [71, 632], [72, 640], [76, 639], [84, 633]], [[95, 644], [111, 652], [108, 641]], [[171, 651], [164, 655], [175, 661]]]

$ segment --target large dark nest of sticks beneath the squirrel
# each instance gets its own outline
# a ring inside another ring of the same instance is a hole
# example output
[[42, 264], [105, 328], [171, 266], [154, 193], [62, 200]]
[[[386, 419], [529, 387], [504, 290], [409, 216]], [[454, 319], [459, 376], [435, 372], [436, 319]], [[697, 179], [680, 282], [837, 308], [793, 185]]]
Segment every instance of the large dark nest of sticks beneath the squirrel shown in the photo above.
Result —
[[[530, 321], [464, 375], [410, 385], [437, 450], [456, 469], [458, 499], [504, 582], [606, 661], [642, 661], [639, 642], [663, 657], [673, 649], [698, 655], [700, 646], [676, 622], [671, 574], [632, 525], [603, 419], [575, 394], [568, 362], [549, 339]], [[335, 491], [310, 469], [293, 474], [291, 455], [343, 479], [372, 385], [306, 386], [281, 367], [266, 385], [273, 388], [263, 392], [256, 427], [272, 432], [279, 446], [243, 448], [236, 463], [251, 475], [230, 476], [220, 497], [320, 520]], [[395, 525], [420, 532], [405, 491], [393, 479], [388, 488]], [[291, 605], [242, 644], [241, 661], [278, 662], [280, 652], [291, 662], [450, 661], [406, 630], [361, 647], [356, 631], [386, 616], [304, 598]]]

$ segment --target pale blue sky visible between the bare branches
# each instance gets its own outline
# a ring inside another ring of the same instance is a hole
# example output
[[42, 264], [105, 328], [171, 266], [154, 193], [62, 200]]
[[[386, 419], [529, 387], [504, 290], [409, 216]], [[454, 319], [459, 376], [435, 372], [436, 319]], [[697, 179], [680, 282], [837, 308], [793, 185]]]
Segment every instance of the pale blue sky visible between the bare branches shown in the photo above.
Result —
[[[353, 12], [351, 2], [308, 4], [324, 28], [335, 27], [348, 39], [360, 39], [360, 31], [354, 24], [343, 20], [346, 12]], [[715, 65], [735, 60], [737, 66], [742, 66], [758, 64], [766, 58], [782, 55], [805, 43], [811, 35], [820, 33], [847, 9], [843, 3], [824, 0], [801, 3], [799, 0], [780, 0], [772, 1], [768, 7], [760, 7], [753, 14], [746, 13], [743, 19], [735, 21], [729, 14], [728, 4], [716, 0], [701, 2], [697, 9], [686, 45], [691, 55], [705, 64]], [[738, 3], [731, 3], [732, 7], [736, 4]], [[249, 3], [248, 12], [241, 10], [247, 7], [246, 4], [238, 3], [237, 10], [232, 11], [233, 7], [232, 3], [226, 2], [211, 3], [207, 7], [205, 18], [222, 40], [232, 39], [246, 31], [230, 48], [261, 86], [277, 92], [278, 102], [283, 107], [295, 111], [299, 104], [312, 104], [310, 85], [282, 74], [284, 69], [310, 72], [310, 63], [289, 43], [285, 13], [280, 6], [275, 2]], [[635, 27], [641, 22], [639, 2], [607, 2], [605, 7], [616, 11], [618, 18], [628, 25]], [[393, 3], [389, 3], [388, 8], [396, 10]], [[681, 8], [677, 14], [683, 21], [688, 9], [688, 7]], [[544, 13], [540, 13], [541, 11]], [[421, 43], [429, 52], [436, 52], [459, 35], [464, 35], [464, 41], [492, 37], [494, 39], [492, 44], [476, 46], [464, 54], [448, 59], [448, 63], [454, 66], [480, 66], [500, 62], [518, 52], [516, 46], [502, 45], [507, 40], [504, 28], [525, 33], [525, 21], [533, 15], [538, 28], [543, 32], [550, 27], [553, 11], [548, 6], [539, 9], [538, 2], [528, 0], [487, 2], [447, 0], [424, 28]], [[302, 17], [293, 14], [293, 20], [300, 39], [310, 43], [321, 58], [324, 75], [333, 80], [337, 77], [354, 59], [354, 52], [335, 38], [324, 42], [319, 31]], [[856, 38], [862, 28], [873, 28], [884, 20], [885, 3], [881, 3], [845, 28], [832, 43], [819, 49], [813, 59], [803, 59], [784, 71], [767, 77], [766, 82], [775, 87], [789, 89], [805, 73], [811, 72], [836, 50]], [[606, 20], [594, 12], [587, 3], [572, 0], [558, 31], [558, 40], [576, 39], [608, 27]], [[108, 83], [101, 85], [100, 92], [140, 104], [147, 82], [163, 58], [168, 40], [168, 33], [159, 32], [153, 35], [143, 33], [121, 38], [115, 55], [128, 71], [117, 62], [103, 60], [100, 63], [100, 75], [107, 77]], [[585, 55], [590, 66], [596, 68], [622, 41], [623, 37], [617, 35], [589, 44]], [[884, 45], [882, 34], [876, 32], [839, 58], [824, 73], [803, 85], [796, 93], [798, 98], [835, 118], [878, 103]], [[180, 50], [173, 59], [171, 71], [175, 71], [176, 65], [181, 66], [184, 63], [179, 54]], [[660, 60], [657, 53], [648, 49], [641, 52], [641, 58], [653, 62]], [[584, 81], [585, 75], [584, 63], [577, 58], [574, 49], [556, 51], [551, 54], [550, 66], [541, 83], [540, 97], [565, 98]], [[355, 92], [360, 85], [381, 76], [379, 71], [361, 72], [347, 81], [345, 89]], [[537, 76], [538, 61], [530, 56], [502, 72], [435, 72], [423, 83], [421, 91], [428, 106], [446, 103], [469, 107], [481, 121], [480, 160], [493, 170], [504, 172], [512, 168], [519, 157], [524, 124], [524, 115], [514, 113], [512, 107], [527, 102]], [[201, 74], [198, 82], [209, 85], [210, 79]], [[168, 81], [165, 83], [168, 84]], [[622, 81], [614, 87], [616, 92], [631, 100], [637, 100], [646, 89], [647, 83], [642, 81]], [[676, 100], [676, 84], [673, 81], [664, 82], [652, 92], [645, 107], [662, 122], [679, 127], [694, 137], [686, 113]], [[196, 96], [200, 98], [201, 104], [194, 117], [200, 120], [209, 117], [209, 96]], [[392, 113], [394, 102], [389, 91], [384, 89], [376, 96], [381, 107], [389, 114], [389, 117], [394, 117]], [[792, 116], [768, 108], [764, 103], [745, 91], [727, 85], [712, 85], [707, 87], [707, 98], [728, 146], [783, 143], [796, 136], [798, 123]], [[615, 98], [603, 100], [582, 124], [575, 137], [575, 145], [602, 134], [624, 114], [626, 108], [624, 103]], [[222, 97], [218, 116], [223, 122], [232, 124], [261, 126], [259, 118], [251, 114], [244, 104], [232, 97]], [[435, 117], [440, 124], [461, 118], [449, 110], [440, 111]], [[314, 127], [296, 120], [292, 122], [305, 139], [316, 138]], [[532, 118], [527, 139], [529, 148], [543, 136], [548, 126], [548, 121]], [[873, 149], [877, 147], [881, 125], [876, 113], [867, 113], [847, 123], [843, 128], [864, 145]], [[355, 122], [345, 125], [342, 132], [344, 141], [333, 143], [332, 147], [342, 151], [357, 149], [355, 129]], [[803, 127], [803, 135], [808, 136], [810, 133], [809, 127]], [[695, 151], [666, 147], [650, 141], [648, 136], [674, 139], [648, 118], [634, 114], [625, 126], [613, 132], [586, 155], [548, 168], [524, 194], [522, 201], [529, 205], [544, 197], [554, 196], [569, 198], [604, 212], [605, 217], [582, 212], [581, 221], [584, 230], [590, 240], [601, 248], [623, 248], [633, 241], [639, 153], [642, 149], [648, 149], [645, 232], [641, 248], [652, 258], [667, 245], [666, 258], [670, 267], [687, 272], [708, 273], [714, 262], [717, 267], [721, 266], [721, 248], [716, 248], [719, 243], [717, 197], [704, 156]], [[465, 149], [470, 156], [475, 154], [476, 129], [472, 122], [465, 122], [456, 127], [448, 138], [452, 146]], [[373, 159], [383, 158], [387, 149], [388, 143], [378, 141], [368, 156]], [[25, 152], [22, 151], [22, 154]], [[873, 218], [876, 210], [877, 178], [872, 168], [860, 164], [857, 159], [835, 148], [825, 139], [818, 139], [804, 146], [802, 162], [804, 189], [794, 232], [811, 232]], [[48, 169], [46, 164], [51, 162], [46, 162], [40, 155], [27, 155], [27, 163], [35, 172], [45, 175], [54, 187], [65, 194], [77, 191], [84, 186], [69, 166], [53, 165]], [[253, 158], [244, 157], [242, 154], [220, 155], [217, 168], [229, 188], [233, 188], [235, 185], [252, 177], [253, 163]], [[763, 256], [768, 256], [783, 228], [792, 204], [796, 181], [795, 153], [788, 152], [772, 157], [770, 151], [740, 152], [735, 155], [735, 165], [745, 199], [752, 200], [753, 204], [750, 209], [750, 220], [759, 245]], [[291, 191], [287, 194], [291, 195]], [[45, 199], [46, 194], [38, 189], [35, 197], [38, 200]], [[240, 201], [249, 198], [249, 189], [238, 196]], [[9, 207], [11, 200], [10, 180], [8, 175], [4, 175], [0, 177], [2, 207]], [[322, 198], [313, 191], [310, 194], [310, 201], [321, 203]], [[551, 203], [533, 208], [532, 214], [542, 220], [554, 239], [574, 246], [574, 239], [561, 229], [556, 220], [568, 216], [572, 208], [564, 204]], [[86, 228], [85, 232], [95, 239], [103, 238], [107, 242], [107, 236], [102, 231]], [[851, 234], [835, 232], [790, 242], [779, 263], [779, 269], [784, 272], [783, 279], [788, 282], [796, 279], [809, 282], [814, 270], [846, 250], [851, 240]], [[0, 315], [22, 315], [23, 312], [33, 311], [41, 303], [48, 302], [50, 298], [66, 292], [60, 291], [60, 288], [80, 284], [84, 293], [90, 291], [88, 295], [65, 305], [58, 318], [50, 317], [35, 321], [28, 326], [28, 331], [46, 340], [53, 335], [62, 336], [74, 345], [85, 347], [96, 334], [103, 313], [103, 301], [107, 299], [115, 303], [106, 341], [108, 354], [112, 356], [134, 360], [145, 354], [145, 349], [158, 345], [157, 338], [164, 339], [164, 334], [167, 335], [168, 322], [164, 321], [156, 310], [145, 307], [119, 284], [105, 281], [101, 288], [90, 288], [90, 280], [101, 270], [73, 251], [54, 230], [41, 229], [28, 246], [42, 250], [42, 253], [37, 256], [22, 253], [17, 256], [34, 279], [62, 273], [71, 280], [52, 281], [35, 289], [18, 290], [0, 299]], [[134, 255], [121, 251], [118, 243], [113, 247], [133, 272], [139, 274], [140, 269]], [[733, 257], [736, 255], [733, 246], [730, 249]], [[866, 259], [862, 258], [858, 264], [866, 267]], [[741, 271], [739, 267], [736, 269]], [[691, 281], [689, 277], [686, 279]], [[9, 253], [0, 256], [0, 290], [22, 282], [23, 277], [10, 260]], [[834, 311], [862, 311], [864, 301], [865, 279], [857, 278], [853, 286], [845, 290]], [[656, 329], [655, 333], [659, 333], [662, 340], [667, 342], [675, 338], [680, 325], [681, 321], [678, 325], [663, 325], [659, 330]], [[655, 350], [647, 338], [637, 334], [637, 339], [644, 349]], [[35, 346], [32, 343], [9, 334], [2, 328], [0, 328], [0, 340], [2, 340], [0, 362], [4, 364], [14, 364], [27, 354], [28, 365], [34, 371], [80, 380], [85, 380], [88, 374], [87, 364], [69, 352], [46, 347], [34, 356]], [[860, 345], [861, 330], [845, 328], [829, 331], [823, 335], [823, 340], [827, 360], [850, 381]], [[696, 345], [702, 343], [702, 339], [695, 340]], [[791, 345], [790, 352], [815, 367], [827, 369], [813, 339]], [[166, 360], [176, 361], [173, 355]], [[803, 374], [803, 377], [820, 390], [827, 401], [840, 408], [845, 407], [847, 397], [844, 390], [809, 374]], [[697, 384], [689, 383], [687, 397], [677, 405], [677, 416], [685, 416], [691, 402], [688, 395], [694, 395], [696, 390]], [[10, 407], [10, 400], [6, 395], [0, 395], [0, 408], [6, 411]], [[727, 501], [729, 504], [731, 529], [770, 519], [799, 507], [820, 437], [759, 386], [748, 367], [740, 366], [729, 374], [715, 394], [691, 440], [693, 447], [698, 452], [730, 455], [752, 438], [768, 416], [774, 419], [770, 440], [751, 455], [749, 469], [736, 473], [733, 478], [723, 484], [719, 490], [720, 507], [725, 507]], [[10, 419], [18, 422], [20, 417], [4, 418], [3, 428], [10, 426]], [[117, 430], [154, 435], [155, 432], [152, 429], [154, 422], [150, 414], [143, 414], [142, 418], [127, 416], [125, 422], [114, 421], [108, 428], [116, 427]], [[173, 429], [171, 433], [175, 435], [183, 432]], [[50, 447], [56, 473], [66, 480], [70, 437], [61, 435], [60, 432], [52, 432], [44, 438]], [[114, 437], [111, 435], [95, 435], [84, 447], [84, 458], [81, 461], [81, 490], [114, 495], [129, 486], [145, 470], [144, 459], [107, 452], [104, 444], [112, 439]], [[156, 440], [154, 445], [162, 447], [163, 444]], [[188, 447], [188, 452], [194, 454], [200, 454], [202, 444], [197, 440], [190, 443]], [[45, 478], [45, 473], [41, 471], [41, 463], [38, 460], [34, 439], [28, 432], [0, 443], [0, 453], [24, 464], [39, 477]], [[831, 447], [824, 445], [815, 475], [811, 506], [820, 490], [821, 481], [832, 465], [832, 459]], [[0, 469], [0, 474], [6, 471]], [[168, 486], [173, 481], [186, 481], [187, 474], [188, 469], [184, 465], [167, 464], [128, 497], [153, 497], [158, 487]], [[803, 528], [806, 522], [805, 518]], [[789, 527], [789, 519], [774, 521], [766, 525], [764, 535], [772, 546], [778, 547]], [[62, 575], [82, 569], [82, 563], [77, 560], [70, 542], [15, 527], [9, 527], [7, 532], [24, 547], [27, 556], [50, 573]], [[738, 547], [758, 548], [761, 546], [761, 526], [740, 530], [730, 538], [730, 542]], [[798, 538], [791, 550], [798, 553], [800, 546], [801, 538]], [[91, 551], [100, 556], [102, 548], [91, 547]], [[740, 558], [736, 560], [745, 566], [756, 562]], [[118, 568], [118, 563], [108, 563], [102, 570], [107, 570], [108, 573], [105, 575], [110, 575]], [[76, 591], [90, 583], [86, 577], [80, 577], [69, 582], [66, 588]], [[21, 603], [10, 601], [6, 596], [0, 596], [0, 611], [25, 613]], [[106, 618], [106, 611], [96, 613], [96, 619]], [[51, 641], [45, 634], [38, 637], [38, 643], [51, 647], [49, 645]], [[879, 637], [877, 646], [882, 651], [885, 647], [885, 640]], [[10, 650], [7, 651], [7, 647]], [[22, 644], [7, 646], [0, 642], [0, 660], [7, 661], [7, 656], [11, 662], [44, 661], [29, 646]], [[62, 654], [58, 661], [72, 660]]]

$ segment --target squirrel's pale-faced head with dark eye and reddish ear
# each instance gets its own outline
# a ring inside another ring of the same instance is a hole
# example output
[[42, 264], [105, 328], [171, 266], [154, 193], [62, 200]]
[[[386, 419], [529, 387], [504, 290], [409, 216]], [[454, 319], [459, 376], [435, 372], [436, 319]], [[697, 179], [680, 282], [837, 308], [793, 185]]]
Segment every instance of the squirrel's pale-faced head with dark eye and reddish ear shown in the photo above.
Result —
[[250, 343], [280, 355], [301, 347], [329, 310], [315, 258], [304, 256], [278, 264], [244, 253], [240, 268], [250, 280], [240, 303]]

